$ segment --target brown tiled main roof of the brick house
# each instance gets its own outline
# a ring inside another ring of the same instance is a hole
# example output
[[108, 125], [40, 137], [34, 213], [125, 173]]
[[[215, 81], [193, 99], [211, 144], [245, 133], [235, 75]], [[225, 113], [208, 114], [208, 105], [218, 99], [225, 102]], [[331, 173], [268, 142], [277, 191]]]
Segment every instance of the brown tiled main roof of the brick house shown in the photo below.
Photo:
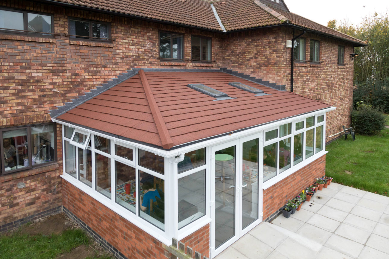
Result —
[[[361, 40], [332, 30], [304, 17], [285, 10], [268, 7], [259, 0], [46, 0], [69, 5], [88, 7], [109, 12], [116, 12], [140, 18], [154, 19], [169, 23], [194, 26], [208, 30], [222, 31], [212, 10], [217, 12], [226, 31], [244, 30], [280, 24], [293, 24], [303, 28], [324, 33], [366, 45]], [[266, 2], [266, 1], [264, 1]], [[286, 19], [284, 19], [286, 18]]]

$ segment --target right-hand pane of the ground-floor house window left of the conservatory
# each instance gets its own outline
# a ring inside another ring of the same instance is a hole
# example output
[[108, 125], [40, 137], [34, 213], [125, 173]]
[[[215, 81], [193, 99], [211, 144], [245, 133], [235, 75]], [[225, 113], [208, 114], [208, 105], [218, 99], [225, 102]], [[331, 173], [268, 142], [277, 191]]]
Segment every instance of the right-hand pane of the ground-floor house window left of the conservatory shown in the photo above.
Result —
[[32, 164], [46, 163], [55, 160], [54, 125], [31, 127]]

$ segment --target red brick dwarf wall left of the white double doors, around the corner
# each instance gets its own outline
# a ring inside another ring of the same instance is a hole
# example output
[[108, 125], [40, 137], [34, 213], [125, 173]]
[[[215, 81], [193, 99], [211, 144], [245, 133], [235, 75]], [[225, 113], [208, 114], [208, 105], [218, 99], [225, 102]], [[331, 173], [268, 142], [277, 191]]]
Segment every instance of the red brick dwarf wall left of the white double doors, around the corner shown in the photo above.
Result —
[[[171, 256], [162, 248], [161, 242], [65, 180], [63, 207], [77, 220], [85, 222], [84, 228], [96, 233], [101, 238], [100, 241], [104, 240], [103, 245], [106, 248], [112, 250], [113, 247], [118, 257], [166, 259]], [[207, 224], [181, 242], [209, 257], [209, 231]], [[108, 246], [104, 242], [108, 243]]]

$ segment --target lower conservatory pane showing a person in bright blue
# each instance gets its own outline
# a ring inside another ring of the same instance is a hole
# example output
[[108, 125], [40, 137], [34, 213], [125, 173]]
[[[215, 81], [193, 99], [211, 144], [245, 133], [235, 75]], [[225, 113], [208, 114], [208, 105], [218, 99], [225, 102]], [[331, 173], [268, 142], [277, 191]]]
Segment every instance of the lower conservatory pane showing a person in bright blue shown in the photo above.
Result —
[[139, 171], [139, 179], [139, 216], [164, 230], [165, 181], [142, 171]]

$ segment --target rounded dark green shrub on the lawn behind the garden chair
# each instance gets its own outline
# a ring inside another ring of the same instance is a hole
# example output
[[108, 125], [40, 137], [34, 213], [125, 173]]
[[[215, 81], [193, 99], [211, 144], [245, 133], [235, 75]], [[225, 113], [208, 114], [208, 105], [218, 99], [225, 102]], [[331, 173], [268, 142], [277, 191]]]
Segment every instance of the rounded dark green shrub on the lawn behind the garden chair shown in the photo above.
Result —
[[362, 135], [377, 135], [385, 128], [385, 116], [371, 105], [359, 102], [358, 110], [351, 112], [351, 125], [355, 132]]

